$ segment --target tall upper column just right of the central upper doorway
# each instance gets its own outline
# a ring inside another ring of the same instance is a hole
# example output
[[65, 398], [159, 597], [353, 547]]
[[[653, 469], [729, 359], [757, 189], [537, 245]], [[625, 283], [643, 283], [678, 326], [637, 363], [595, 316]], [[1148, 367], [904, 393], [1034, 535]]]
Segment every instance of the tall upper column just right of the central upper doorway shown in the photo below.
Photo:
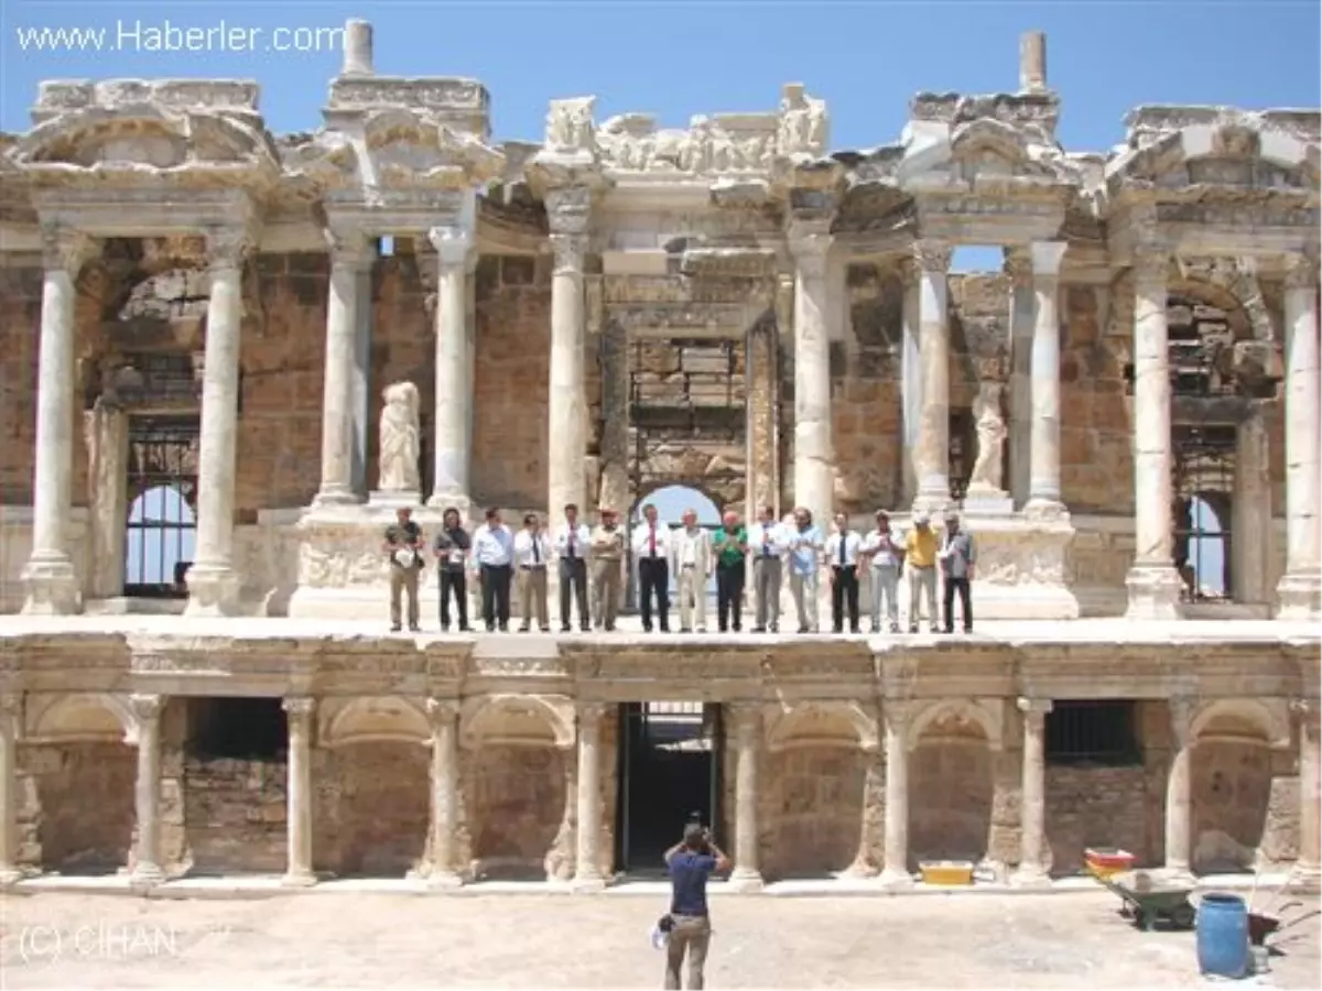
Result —
[[795, 256], [795, 502], [822, 519], [836, 505], [826, 336], [830, 235], [792, 233], [789, 250]]

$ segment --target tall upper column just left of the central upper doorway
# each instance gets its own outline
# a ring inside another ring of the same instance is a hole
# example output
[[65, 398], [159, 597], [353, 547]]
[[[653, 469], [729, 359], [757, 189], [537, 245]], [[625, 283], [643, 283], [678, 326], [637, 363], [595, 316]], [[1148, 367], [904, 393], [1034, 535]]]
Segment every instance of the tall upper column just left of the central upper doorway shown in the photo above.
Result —
[[587, 322], [583, 264], [587, 255], [590, 193], [564, 189], [547, 194], [551, 225], [551, 392], [547, 404], [550, 452], [547, 507], [559, 514], [572, 502], [588, 506], [587, 492], [587, 366], [583, 349]]

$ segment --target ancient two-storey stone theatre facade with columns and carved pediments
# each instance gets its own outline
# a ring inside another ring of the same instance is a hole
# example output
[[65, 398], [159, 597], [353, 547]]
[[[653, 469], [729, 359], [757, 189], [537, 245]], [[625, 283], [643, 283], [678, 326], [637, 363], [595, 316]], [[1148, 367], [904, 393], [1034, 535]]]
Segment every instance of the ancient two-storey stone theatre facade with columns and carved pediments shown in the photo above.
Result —
[[[1071, 151], [1030, 34], [870, 149], [797, 83], [500, 141], [481, 83], [345, 38], [313, 133], [120, 79], [0, 135], [5, 883], [594, 889], [693, 809], [747, 889], [1322, 879], [1322, 111]], [[383, 633], [397, 506], [668, 485], [957, 509], [976, 630], [439, 634], [428, 568]]]

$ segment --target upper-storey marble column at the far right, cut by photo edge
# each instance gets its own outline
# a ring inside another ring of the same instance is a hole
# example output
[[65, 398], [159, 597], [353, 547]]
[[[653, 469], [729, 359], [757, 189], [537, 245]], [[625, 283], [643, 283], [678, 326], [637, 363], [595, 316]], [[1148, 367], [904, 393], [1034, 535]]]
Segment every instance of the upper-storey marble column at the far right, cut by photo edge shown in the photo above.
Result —
[[1285, 575], [1277, 587], [1281, 620], [1322, 620], [1322, 355], [1318, 345], [1318, 267], [1288, 259], [1285, 277]]

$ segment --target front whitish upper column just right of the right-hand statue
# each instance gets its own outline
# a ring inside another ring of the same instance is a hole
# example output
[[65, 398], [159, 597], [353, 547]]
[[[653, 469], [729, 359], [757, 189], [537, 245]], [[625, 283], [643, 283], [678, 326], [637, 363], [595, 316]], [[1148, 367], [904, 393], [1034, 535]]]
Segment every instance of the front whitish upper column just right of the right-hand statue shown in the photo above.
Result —
[[1032, 244], [1032, 447], [1030, 515], [1060, 515], [1060, 263], [1066, 242]]

